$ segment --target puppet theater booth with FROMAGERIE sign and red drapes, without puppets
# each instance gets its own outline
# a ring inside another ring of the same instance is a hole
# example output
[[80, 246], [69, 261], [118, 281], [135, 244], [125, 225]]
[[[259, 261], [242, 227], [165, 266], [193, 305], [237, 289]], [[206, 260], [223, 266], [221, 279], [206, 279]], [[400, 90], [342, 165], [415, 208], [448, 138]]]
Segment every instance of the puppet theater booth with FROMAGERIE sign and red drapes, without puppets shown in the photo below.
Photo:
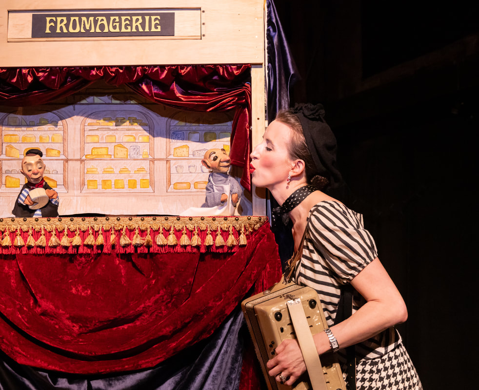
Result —
[[[258, 389], [239, 304], [280, 276], [248, 160], [263, 1], [78, 6], [0, 9], [0, 387]], [[11, 215], [32, 147], [58, 218]], [[210, 147], [242, 215], [179, 216], [204, 201]]]

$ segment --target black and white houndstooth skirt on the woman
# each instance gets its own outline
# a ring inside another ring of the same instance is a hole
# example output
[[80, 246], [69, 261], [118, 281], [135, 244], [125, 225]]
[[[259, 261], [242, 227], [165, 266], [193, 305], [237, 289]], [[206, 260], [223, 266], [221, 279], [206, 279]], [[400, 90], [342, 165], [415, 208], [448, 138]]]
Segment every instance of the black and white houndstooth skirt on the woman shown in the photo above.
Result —
[[422, 385], [413, 362], [401, 343], [382, 357], [358, 362], [356, 389], [422, 390]]

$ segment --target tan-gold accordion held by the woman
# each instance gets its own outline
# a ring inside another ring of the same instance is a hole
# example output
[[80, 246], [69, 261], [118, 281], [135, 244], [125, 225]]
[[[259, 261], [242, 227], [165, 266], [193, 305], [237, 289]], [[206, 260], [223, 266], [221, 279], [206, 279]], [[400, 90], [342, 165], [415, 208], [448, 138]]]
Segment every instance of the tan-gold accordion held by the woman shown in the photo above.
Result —
[[[268, 389], [345, 390], [346, 385], [339, 363], [332, 353], [321, 355], [320, 362], [319, 359], [317, 360], [318, 367], [314, 365], [313, 369], [311, 364], [308, 366], [308, 361], [305, 358], [308, 370], [298, 379], [293, 387], [278, 383], [274, 377], [268, 375], [266, 363], [270, 358], [274, 357], [275, 348], [283, 340], [298, 338], [299, 346], [303, 356], [305, 356], [299, 332], [297, 337], [297, 332], [295, 331], [297, 324], [299, 328], [298, 310], [301, 314], [300, 317], [302, 317], [300, 318], [303, 321], [302, 326], [306, 328], [305, 331], [308, 337], [311, 334], [308, 344], [312, 342], [314, 346], [312, 335], [327, 328], [318, 293], [314, 289], [297, 284], [282, 284], [282, 287], [280, 286], [279, 288], [278, 286], [279, 283], [272, 290], [266, 290], [241, 302], [241, 310], [253, 339], [255, 351]], [[295, 309], [296, 314], [293, 315], [293, 317], [296, 317], [296, 320], [291, 316], [291, 307], [295, 303], [298, 304], [296, 305], [297, 307], [299, 306], [299, 308]], [[301, 311], [301, 306], [304, 312]], [[307, 328], [309, 328], [310, 334]], [[302, 337], [304, 340], [304, 336]], [[309, 347], [311, 348], [310, 345]], [[318, 355], [317, 353], [315, 354], [316, 359]], [[315, 363], [315, 360], [313, 360], [313, 363]], [[314, 381], [313, 374], [315, 375]]]

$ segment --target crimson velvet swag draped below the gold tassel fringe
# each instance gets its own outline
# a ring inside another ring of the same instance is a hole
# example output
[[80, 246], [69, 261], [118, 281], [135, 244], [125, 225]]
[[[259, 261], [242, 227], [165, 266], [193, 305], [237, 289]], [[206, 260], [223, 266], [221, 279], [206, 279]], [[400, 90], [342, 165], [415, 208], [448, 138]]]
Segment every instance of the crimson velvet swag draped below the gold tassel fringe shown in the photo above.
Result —
[[153, 367], [279, 280], [269, 224], [234, 254], [0, 256], [0, 349], [79, 374]]

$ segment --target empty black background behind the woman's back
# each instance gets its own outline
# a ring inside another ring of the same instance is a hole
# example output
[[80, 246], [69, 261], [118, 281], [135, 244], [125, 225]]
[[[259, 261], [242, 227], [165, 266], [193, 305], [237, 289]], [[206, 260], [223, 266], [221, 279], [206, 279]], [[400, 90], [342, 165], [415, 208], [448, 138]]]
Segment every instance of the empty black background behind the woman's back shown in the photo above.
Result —
[[301, 78], [291, 102], [325, 107], [424, 389], [475, 388], [479, 4], [274, 3]]

